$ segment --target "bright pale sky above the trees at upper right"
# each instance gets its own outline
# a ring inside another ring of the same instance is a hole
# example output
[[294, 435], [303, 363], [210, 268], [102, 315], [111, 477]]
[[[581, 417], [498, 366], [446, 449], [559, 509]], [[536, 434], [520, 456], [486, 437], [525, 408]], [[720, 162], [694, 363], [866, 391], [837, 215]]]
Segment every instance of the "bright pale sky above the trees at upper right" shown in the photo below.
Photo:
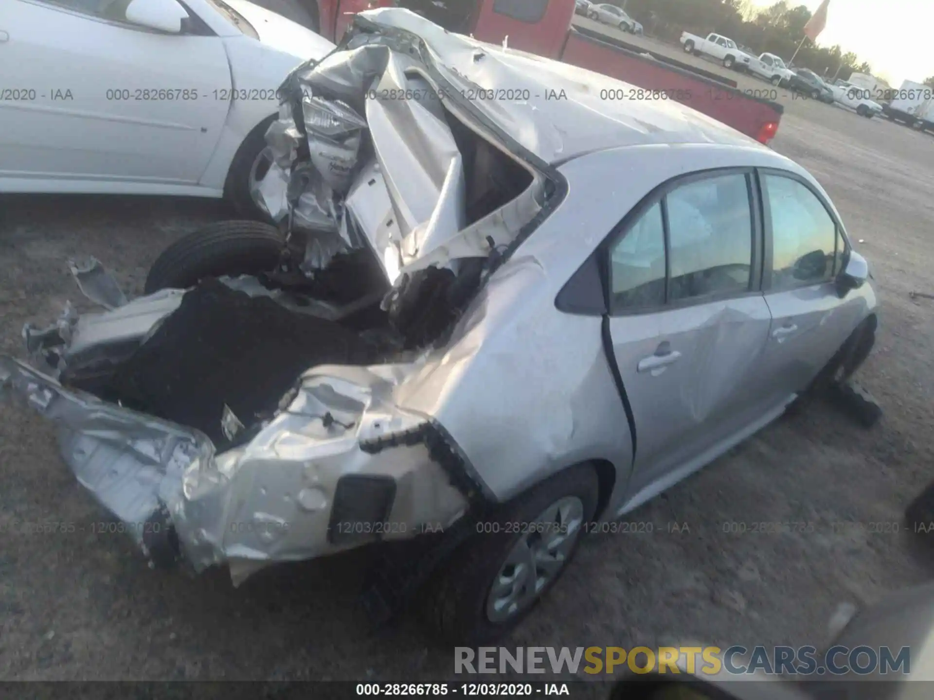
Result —
[[[753, 0], [769, 7], [775, 0]], [[804, 5], [812, 12], [821, 0], [787, 0], [788, 7]], [[868, 61], [872, 75], [884, 77], [893, 88], [902, 80], [921, 82], [934, 76], [934, 0], [830, 0], [827, 27], [819, 46], [840, 44]], [[786, 57], [788, 58], [788, 57]]]

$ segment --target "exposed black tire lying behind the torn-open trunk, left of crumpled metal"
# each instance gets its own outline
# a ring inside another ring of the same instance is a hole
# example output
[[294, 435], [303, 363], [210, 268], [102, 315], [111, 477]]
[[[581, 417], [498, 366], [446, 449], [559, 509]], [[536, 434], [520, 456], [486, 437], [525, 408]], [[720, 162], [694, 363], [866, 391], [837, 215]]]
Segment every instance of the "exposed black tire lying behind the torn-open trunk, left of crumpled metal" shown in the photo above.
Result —
[[219, 221], [182, 236], [152, 263], [144, 291], [187, 289], [206, 277], [276, 269], [285, 238], [261, 221]]

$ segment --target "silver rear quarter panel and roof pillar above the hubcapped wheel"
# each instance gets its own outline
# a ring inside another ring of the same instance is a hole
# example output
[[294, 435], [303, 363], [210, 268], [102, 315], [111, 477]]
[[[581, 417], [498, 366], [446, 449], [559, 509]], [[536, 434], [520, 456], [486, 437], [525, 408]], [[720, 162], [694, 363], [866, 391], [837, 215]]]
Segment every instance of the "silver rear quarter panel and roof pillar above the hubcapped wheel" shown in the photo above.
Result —
[[588, 459], [616, 467], [611, 506], [629, 479], [629, 424], [601, 317], [555, 307], [561, 287], [650, 189], [618, 178], [618, 154], [603, 163], [594, 169], [583, 158], [560, 168], [569, 182], [563, 202], [493, 273], [446, 346], [396, 392], [401, 408], [446, 428], [500, 501]]

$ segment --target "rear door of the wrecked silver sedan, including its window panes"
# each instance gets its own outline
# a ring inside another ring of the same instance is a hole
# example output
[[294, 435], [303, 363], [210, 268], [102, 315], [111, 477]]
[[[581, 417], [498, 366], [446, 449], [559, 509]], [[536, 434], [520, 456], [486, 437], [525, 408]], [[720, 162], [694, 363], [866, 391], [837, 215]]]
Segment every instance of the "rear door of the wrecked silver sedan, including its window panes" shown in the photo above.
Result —
[[637, 442], [630, 493], [761, 415], [749, 379], [771, 315], [759, 291], [752, 177], [677, 180], [608, 246], [610, 334]]

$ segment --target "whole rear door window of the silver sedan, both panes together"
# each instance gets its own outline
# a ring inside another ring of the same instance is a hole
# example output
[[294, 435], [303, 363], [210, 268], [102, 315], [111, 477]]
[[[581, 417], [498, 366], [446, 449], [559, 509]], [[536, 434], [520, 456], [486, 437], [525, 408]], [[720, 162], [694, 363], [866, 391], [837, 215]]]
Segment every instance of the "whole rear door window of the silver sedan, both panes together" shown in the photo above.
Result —
[[611, 249], [611, 308], [626, 312], [749, 290], [749, 192], [747, 175], [732, 173], [686, 182], [653, 203]]

